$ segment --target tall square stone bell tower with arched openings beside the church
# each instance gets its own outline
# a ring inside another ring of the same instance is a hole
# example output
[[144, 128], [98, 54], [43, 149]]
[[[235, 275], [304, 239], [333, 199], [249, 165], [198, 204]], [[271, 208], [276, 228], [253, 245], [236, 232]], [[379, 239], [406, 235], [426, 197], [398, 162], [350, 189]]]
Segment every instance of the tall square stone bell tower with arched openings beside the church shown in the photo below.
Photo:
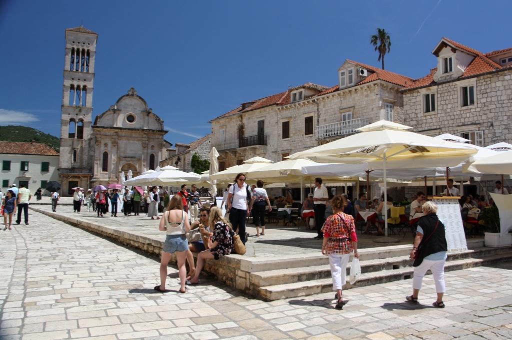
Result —
[[82, 26], [66, 30], [62, 115], [60, 121], [59, 182], [87, 188], [92, 176], [91, 141], [94, 60], [98, 34]]

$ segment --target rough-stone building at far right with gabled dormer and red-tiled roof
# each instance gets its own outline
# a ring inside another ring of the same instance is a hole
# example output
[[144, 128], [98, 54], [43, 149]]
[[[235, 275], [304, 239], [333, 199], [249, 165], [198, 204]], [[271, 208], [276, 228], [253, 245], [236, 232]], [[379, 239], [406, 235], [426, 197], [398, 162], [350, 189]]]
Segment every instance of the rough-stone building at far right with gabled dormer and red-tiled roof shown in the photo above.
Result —
[[[437, 67], [400, 91], [403, 123], [418, 133], [451, 133], [481, 147], [512, 142], [512, 48], [482, 53], [443, 37], [432, 54]], [[494, 189], [493, 181], [483, 185]], [[480, 186], [464, 187], [480, 193]]]

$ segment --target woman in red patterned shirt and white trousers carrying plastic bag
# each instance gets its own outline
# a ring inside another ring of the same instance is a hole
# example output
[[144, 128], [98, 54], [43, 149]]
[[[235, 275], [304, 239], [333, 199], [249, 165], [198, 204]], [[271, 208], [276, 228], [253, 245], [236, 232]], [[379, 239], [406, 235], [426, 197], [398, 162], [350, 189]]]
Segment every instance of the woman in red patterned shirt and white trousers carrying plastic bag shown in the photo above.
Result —
[[359, 258], [357, 253], [357, 235], [354, 217], [343, 212], [347, 201], [343, 196], [334, 196], [331, 199], [333, 215], [329, 216], [322, 227], [324, 240], [322, 254], [329, 256], [331, 265], [332, 285], [336, 290], [336, 308], [342, 309], [345, 305], [342, 295], [342, 286], [347, 282], [345, 273], [350, 253]]

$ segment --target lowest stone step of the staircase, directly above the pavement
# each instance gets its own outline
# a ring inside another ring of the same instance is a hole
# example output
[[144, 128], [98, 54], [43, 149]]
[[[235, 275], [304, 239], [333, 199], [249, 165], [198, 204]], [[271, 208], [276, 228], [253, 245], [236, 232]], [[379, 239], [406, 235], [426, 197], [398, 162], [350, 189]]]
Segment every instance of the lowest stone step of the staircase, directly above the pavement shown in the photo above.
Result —
[[[463, 258], [463, 259], [454, 259], [451, 261], [447, 261], [444, 270], [459, 270], [464, 268], [471, 268], [476, 266], [482, 266], [487, 264], [493, 264], [498, 262], [509, 261], [512, 259], [512, 252], [510, 251], [510, 247], [508, 248], [508, 252], [505, 253], [496, 253], [492, 255], [479, 256], [477, 258]], [[361, 266], [362, 271], [362, 266]], [[361, 277], [357, 282], [351, 285], [348, 282], [343, 287], [343, 289], [350, 289], [352, 287], [361, 287], [368, 286], [379, 283], [386, 283], [404, 279], [411, 279], [413, 277], [414, 268], [412, 266], [402, 267], [398, 269], [386, 269], [373, 271], [370, 273], [362, 273]], [[330, 271], [329, 271], [330, 274]], [[430, 270], [428, 271], [430, 273]], [[292, 282], [285, 284], [275, 284], [268, 286], [260, 287], [260, 296], [267, 301], [278, 300], [278, 299], [287, 299], [294, 297], [302, 297], [308, 296], [311, 294], [330, 292], [332, 291], [332, 279], [321, 278], [314, 279], [309, 281], [302, 282]]]

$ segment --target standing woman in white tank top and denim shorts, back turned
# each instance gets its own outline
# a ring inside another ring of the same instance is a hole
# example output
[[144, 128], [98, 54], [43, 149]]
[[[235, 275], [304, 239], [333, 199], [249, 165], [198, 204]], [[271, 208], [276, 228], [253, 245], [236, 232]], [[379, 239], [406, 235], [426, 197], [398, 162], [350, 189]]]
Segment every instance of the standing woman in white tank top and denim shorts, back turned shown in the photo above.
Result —
[[188, 214], [183, 212], [181, 197], [178, 195], [170, 199], [167, 211], [160, 220], [158, 230], [166, 232], [167, 237], [163, 245], [162, 260], [160, 262], [160, 285], [155, 286], [155, 290], [165, 291], [167, 264], [169, 263], [170, 257], [175, 252], [178, 252], [178, 269], [181, 283], [180, 293], [185, 293], [185, 277], [187, 274], [185, 259], [188, 251], [188, 241], [185, 234], [190, 231], [190, 224], [188, 222]]

